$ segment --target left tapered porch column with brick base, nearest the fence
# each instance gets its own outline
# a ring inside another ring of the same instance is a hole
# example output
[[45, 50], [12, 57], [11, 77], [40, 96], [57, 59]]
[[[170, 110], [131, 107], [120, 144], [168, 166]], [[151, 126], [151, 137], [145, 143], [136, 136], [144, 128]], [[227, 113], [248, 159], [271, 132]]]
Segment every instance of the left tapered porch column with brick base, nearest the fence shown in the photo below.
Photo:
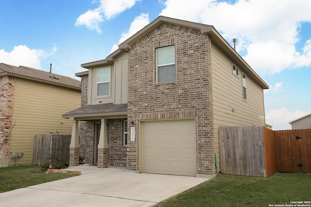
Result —
[[79, 165], [79, 134], [78, 134], [78, 120], [73, 120], [72, 124], [72, 133], [70, 140], [70, 152], [69, 152], [69, 166], [78, 166]]

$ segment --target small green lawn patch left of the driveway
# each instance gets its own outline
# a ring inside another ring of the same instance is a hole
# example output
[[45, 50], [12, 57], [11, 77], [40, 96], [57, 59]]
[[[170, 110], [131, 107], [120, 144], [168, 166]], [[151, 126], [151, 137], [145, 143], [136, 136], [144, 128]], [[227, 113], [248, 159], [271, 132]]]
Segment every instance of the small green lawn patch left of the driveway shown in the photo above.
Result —
[[0, 168], [0, 193], [76, 176], [65, 173], [33, 173], [38, 168], [38, 165]]

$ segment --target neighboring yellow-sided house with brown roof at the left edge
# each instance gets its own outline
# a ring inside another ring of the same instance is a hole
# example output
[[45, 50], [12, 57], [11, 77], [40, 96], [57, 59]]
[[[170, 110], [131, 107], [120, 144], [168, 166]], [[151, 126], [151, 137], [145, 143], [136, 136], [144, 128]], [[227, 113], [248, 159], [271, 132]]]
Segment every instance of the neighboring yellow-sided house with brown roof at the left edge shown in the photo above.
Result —
[[[32, 164], [36, 134], [71, 134], [72, 121], [62, 114], [80, 104], [80, 81], [1, 63], [0, 167]], [[12, 158], [16, 153], [22, 156]]]

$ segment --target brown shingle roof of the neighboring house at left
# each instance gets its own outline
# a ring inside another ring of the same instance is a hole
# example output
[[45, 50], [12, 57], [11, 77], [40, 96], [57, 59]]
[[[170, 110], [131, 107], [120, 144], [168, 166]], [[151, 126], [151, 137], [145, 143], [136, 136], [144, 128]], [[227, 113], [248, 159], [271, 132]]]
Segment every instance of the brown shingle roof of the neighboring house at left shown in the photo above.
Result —
[[0, 76], [10, 75], [30, 79], [39, 82], [61, 85], [81, 90], [81, 82], [67, 76], [62, 76], [39, 69], [33, 69], [25, 66], [11, 66], [8, 64], [0, 64]]

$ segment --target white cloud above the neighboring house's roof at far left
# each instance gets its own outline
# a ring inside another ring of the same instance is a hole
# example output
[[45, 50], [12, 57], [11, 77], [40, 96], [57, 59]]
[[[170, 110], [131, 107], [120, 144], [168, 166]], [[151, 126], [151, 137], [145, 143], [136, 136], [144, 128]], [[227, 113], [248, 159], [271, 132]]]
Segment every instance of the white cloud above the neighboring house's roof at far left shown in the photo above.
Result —
[[41, 69], [41, 59], [44, 59], [55, 52], [57, 48], [53, 47], [48, 51], [29, 49], [25, 45], [15, 46], [13, 51], [5, 52], [0, 50], [0, 62], [13, 66], [26, 66], [35, 69]]

